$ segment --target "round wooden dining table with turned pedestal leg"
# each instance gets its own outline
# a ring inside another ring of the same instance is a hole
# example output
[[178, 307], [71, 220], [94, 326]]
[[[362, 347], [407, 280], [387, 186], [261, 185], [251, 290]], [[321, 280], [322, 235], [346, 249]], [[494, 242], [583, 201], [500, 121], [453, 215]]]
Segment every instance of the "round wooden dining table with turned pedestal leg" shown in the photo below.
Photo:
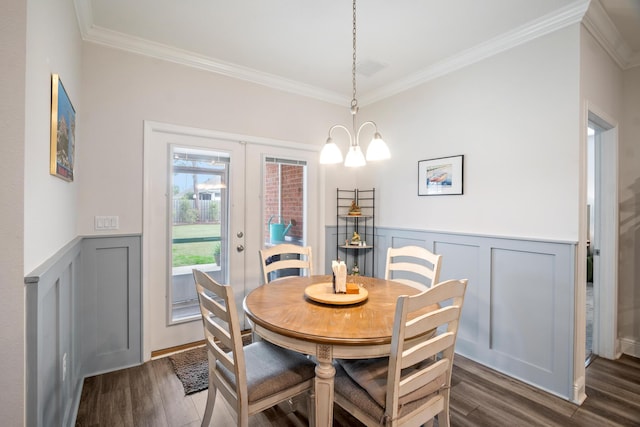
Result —
[[348, 276], [347, 283], [358, 293], [334, 293], [331, 275], [282, 277], [252, 290], [243, 302], [254, 333], [316, 362], [309, 417], [318, 427], [333, 423], [334, 360], [389, 356], [396, 301], [421, 292], [375, 277]]

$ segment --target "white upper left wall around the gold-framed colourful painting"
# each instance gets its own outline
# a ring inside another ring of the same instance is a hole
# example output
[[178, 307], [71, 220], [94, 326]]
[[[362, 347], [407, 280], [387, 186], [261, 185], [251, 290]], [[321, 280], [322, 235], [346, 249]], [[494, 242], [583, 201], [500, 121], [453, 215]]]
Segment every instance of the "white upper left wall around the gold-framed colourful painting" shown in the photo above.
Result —
[[49, 174], [51, 74], [59, 74], [76, 110], [77, 138], [86, 112], [80, 103], [81, 38], [74, 3], [27, 1], [27, 71], [24, 173], [24, 274], [77, 236], [77, 187], [87, 169], [77, 164], [75, 181]]

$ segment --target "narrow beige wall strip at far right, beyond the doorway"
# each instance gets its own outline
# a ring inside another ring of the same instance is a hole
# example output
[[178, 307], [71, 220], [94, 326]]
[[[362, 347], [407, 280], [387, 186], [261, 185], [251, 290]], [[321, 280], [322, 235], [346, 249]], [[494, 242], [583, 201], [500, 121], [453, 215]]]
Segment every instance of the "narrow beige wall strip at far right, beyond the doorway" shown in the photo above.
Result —
[[619, 138], [618, 336], [640, 357], [640, 66], [623, 72]]

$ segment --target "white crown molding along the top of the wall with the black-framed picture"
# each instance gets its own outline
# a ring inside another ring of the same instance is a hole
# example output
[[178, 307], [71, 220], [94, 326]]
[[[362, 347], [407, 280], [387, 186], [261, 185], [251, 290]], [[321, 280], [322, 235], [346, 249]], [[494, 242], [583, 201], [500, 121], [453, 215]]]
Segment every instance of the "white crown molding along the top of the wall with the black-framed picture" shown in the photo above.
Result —
[[449, 58], [422, 71], [414, 73], [402, 80], [398, 80], [390, 85], [370, 92], [367, 96], [362, 97], [362, 104], [371, 104], [400, 92], [404, 92], [415, 86], [427, 83], [428, 81], [452, 73], [538, 37], [580, 22], [587, 11], [588, 6], [589, 0], [575, 1], [556, 12], [528, 22], [514, 30], [501, 34], [500, 36], [484, 43], [480, 43], [470, 49], [464, 50], [457, 55], [450, 56]]

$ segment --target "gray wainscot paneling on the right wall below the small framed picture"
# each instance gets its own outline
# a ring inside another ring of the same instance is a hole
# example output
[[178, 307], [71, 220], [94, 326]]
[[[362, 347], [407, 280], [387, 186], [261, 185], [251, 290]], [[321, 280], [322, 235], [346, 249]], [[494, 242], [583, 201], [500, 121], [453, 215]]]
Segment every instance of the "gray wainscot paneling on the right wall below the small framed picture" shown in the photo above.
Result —
[[[326, 271], [336, 229], [326, 229]], [[571, 400], [575, 242], [376, 228], [375, 275], [389, 247], [442, 255], [440, 280], [469, 279], [456, 352]]]

